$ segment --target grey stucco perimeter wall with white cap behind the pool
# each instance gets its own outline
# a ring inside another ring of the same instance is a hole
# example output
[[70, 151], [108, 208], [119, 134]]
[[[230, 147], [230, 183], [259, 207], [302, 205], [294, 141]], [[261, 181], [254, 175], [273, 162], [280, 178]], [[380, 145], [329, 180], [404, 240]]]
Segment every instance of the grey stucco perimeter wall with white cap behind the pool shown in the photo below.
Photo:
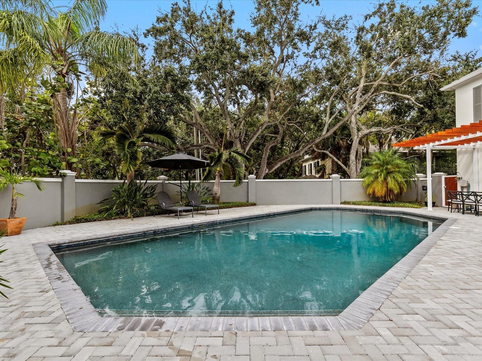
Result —
[[[17, 186], [20, 193], [26, 197], [19, 199], [18, 217], [27, 217], [25, 229], [50, 226], [65, 219], [62, 213], [62, 182], [65, 178], [46, 178], [45, 190], [40, 192], [31, 182]], [[442, 177], [434, 177], [442, 179]], [[254, 180], [253, 180], [254, 181]], [[337, 181], [335, 179], [335, 181]], [[435, 180], [434, 180], [435, 181]], [[340, 200], [365, 201], [370, 200], [362, 187], [362, 180], [342, 179], [340, 182]], [[77, 216], [95, 212], [100, 205], [97, 203], [108, 198], [111, 190], [122, 181], [103, 180], [75, 180], [75, 214]], [[187, 183], [187, 182], [183, 182]], [[193, 183], [196, 183], [195, 181]], [[157, 184], [157, 190], [162, 190], [162, 181], [147, 181], [147, 184]], [[165, 190], [174, 202], [179, 200], [177, 181], [166, 181]], [[244, 181], [241, 186], [234, 188], [234, 181], [221, 181], [222, 202], [247, 202], [249, 182]], [[426, 180], [418, 181], [418, 185], [402, 196], [404, 201], [423, 200], [425, 192], [421, 192], [422, 184]], [[328, 180], [256, 180], [255, 201], [258, 205], [323, 205], [333, 204], [333, 181]], [[214, 182], [205, 182], [204, 186], [211, 190]], [[337, 188], [335, 188], [337, 189]], [[438, 189], [437, 187], [434, 188]], [[12, 188], [6, 188], [0, 193], [0, 218], [7, 218], [10, 210]], [[70, 199], [72, 197], [66, 197]], [[70, 205], [72, 206], [72, 205]]]

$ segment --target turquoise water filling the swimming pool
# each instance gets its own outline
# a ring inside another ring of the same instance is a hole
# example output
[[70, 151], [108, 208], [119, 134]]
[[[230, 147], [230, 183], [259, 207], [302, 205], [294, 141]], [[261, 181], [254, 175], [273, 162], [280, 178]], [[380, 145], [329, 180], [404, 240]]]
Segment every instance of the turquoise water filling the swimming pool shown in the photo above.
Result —
[[439, 225], [310, 211], [56, 254], [104, 314], [338, 314]]

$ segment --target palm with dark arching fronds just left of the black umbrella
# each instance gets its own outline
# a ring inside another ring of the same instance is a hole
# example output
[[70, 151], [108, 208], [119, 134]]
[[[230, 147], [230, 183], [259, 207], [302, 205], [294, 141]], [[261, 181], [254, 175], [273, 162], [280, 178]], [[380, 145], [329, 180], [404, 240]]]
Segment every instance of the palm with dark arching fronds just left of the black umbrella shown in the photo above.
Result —
[[[123, 117], [125, 119], [125, 116]], [[142, 159], [142, 147], [155, 149], [165, 147], [169, 150], [175, 148], [176, 137], [171, 128], [164, 124], [150, 126], [143, 124], [133, 127], [126, 121], [119, 129], [104, 129], [99, 133], [104, 142], [109, 139], [114, 140], [116, 153], [122, 160], [120, 169], [127, 174], [127, 183], [134, 179], [134, 170]]]

